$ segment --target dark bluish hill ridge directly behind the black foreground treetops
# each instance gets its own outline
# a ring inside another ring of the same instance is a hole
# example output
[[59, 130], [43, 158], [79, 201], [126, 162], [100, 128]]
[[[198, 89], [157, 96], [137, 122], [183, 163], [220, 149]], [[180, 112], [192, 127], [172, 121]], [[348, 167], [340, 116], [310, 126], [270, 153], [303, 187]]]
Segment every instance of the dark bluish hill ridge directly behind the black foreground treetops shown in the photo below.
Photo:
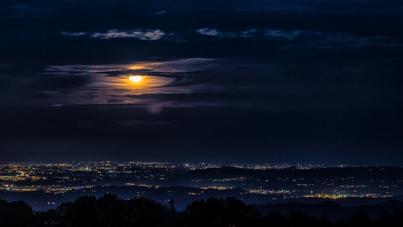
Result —
[[[144, 193], [142, 193], [144, 191]], [[171, 193], [168, 193], [171, 191]], [[175, 191], [175, 193], [172, 193]], [[204, 191], [204, 193], [200, 193]], [[270, 206], [287, 206], [281, 204], [322, 204], [323, 206], [327, 205], [334, 209], [338, 209], [340, 207], [358, 207], [362, 204], [368, 204], [368, 212], [372, 210], [370, 207], [373, 204], [382, 204], [383, 207], [388, 207], [388, 205], [394, 206], [394, 204], [399, 204], [397, 201], [392, 201], [389, 203], [383, 203], [389, 199], [400, 200], [403, 201], [403, 196], [394, 196], [390, 198], [343, 198], [338, 200], [332, 201], [325, 201], [321, 198], [294, 198], [294, 199], [287, 199], [287, 200], [271, 200], [265, 199], [265, 195], [255, 195], [255, 194], [243, 194], [240, 193], [245, 192], [242, 189], [227, 189], [227, 190], [217, 190], [217, 189], [199, 189], [194, 187], [185, 187], [185, 186], [168, 186], [168, 187], [147, 187], [147, 186], [96, 186], [94, 188], [89, 189], [80, 189], [80, 190], [73, 190], [70, 192], [66, 192], [63, 195], [61, 194], [49, 194], [49, 193], [39, 193], [39, 192], [31, 192], [31, 193], [18, 193], [18, 192], [0, 192], [0, 198], [6, 199], [8, 201], [15, 201], [15, 200], [24, 200], [28, 202], [35, 210], [47, 210], [49, 208], [54, 208], [62, 202], [66, 201], [73, 201], [75, 198], [84, 195], [91, 195], [91, 196], [102, 196], [105, 193], [113, 193], [117, 194], [120, 198], [134, 198], [134, 197], [146, 197], [150, 199], [155, 199], [162, 204], [168, 204], [168, 199], [175, 200], [175, 206], [178, 210], [182, 210], [185, 208], [187, 204], [189, 204], [193, 200], [198, 199], [207, 199], [209, 197], [215, 198], [225, 198], [228, 196], [236, 197], [238, 199], [243, 199], [249, 204], [257, 204], [258, 207], [267, 207]], [[141, 194], [138, 194], [140, 192]], [[188, 195], [189, 192], [193, 193], [200, 193], [200, 195]], [[172, 195], [170, 195], [172, 194]], [[139, 196], [140, 195], [140, 196]], [[55, 202], [54, 205], [46, 205], [40, 204], [39, 201], [50, 201]], [[274, 203], [276, 202], [276, 203]], [[264, 205], [266, 204], [266, 205]], [[280, 204], [280, 205], [279, 205]], [[305, 206], [305, 205], [298, 205], [298, 206]], [[263, 209], [264, 210], [264, 209]], [[375, 209], [375, 211], [378, 210]], [[288, 212], [288, 209], [284, 209], [284, 212]]]

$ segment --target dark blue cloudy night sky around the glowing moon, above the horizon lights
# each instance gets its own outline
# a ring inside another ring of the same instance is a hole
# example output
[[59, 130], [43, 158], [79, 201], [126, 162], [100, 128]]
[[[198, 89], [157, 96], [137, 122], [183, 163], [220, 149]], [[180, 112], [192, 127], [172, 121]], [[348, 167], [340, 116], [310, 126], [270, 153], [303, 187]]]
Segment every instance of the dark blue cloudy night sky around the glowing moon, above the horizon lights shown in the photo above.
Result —
[[403, 165], [400, 0], [4, 0], [0, 20], [2, 161]]

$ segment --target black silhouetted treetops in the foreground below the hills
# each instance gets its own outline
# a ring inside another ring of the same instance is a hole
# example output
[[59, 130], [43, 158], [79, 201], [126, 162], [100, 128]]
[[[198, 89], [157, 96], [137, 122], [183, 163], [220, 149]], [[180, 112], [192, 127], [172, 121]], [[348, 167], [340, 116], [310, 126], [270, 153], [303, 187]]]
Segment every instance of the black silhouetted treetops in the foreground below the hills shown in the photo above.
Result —
[[[316, 215], [312, 215], [314, 212]], [[346, 218], [335, 215], [352, 212]], [[110, 193], [99, 198], [81, 196], [47, 211], [33, 211], [23, 201], [0, 200], [0, 226], [401, 226], [402, 223], [403, 203], [393, 200], [363, 207], [341, 207], [332, 202], [257, 207], [228, 197], [195, 200], [183, 211], [175, 209], [173, 200], [163, 205], [148, 198], [121, 199]]]

